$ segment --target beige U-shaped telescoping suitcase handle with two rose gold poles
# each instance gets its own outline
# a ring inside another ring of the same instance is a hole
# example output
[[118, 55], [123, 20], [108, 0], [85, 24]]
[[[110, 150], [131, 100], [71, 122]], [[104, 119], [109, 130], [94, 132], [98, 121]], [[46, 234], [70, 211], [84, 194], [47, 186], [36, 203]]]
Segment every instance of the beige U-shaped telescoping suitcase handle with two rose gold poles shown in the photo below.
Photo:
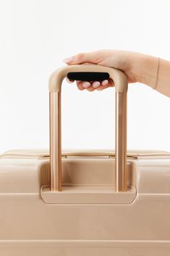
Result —
[[[61, 83], [73, 80], [114, 80], [116, 92], [115, 190], [127, 190], [127, 76], [112, 67], [68, 65], [49, 78], [51, 191], [61, 191]], [[114, 184], [113, 184], [114, 188]]]

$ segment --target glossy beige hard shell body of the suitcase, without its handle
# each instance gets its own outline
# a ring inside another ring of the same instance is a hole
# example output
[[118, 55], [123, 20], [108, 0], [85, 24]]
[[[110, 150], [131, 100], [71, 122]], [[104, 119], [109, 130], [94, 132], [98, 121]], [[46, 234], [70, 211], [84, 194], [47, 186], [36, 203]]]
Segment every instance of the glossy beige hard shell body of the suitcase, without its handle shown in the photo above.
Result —
[[[112, 189], [114, 154], [91, 154], [63, 153], [63, 188], [69, 193], [76, 187], [91, 194]], [[128, 186], [135, 189], [129, 198], [115, 196], [111, 203], [48, 203], [42, 191], [50, 183], [48, 152], [2, 154], [0, 255], [169, 256], [170, 153], [128, 155]]]

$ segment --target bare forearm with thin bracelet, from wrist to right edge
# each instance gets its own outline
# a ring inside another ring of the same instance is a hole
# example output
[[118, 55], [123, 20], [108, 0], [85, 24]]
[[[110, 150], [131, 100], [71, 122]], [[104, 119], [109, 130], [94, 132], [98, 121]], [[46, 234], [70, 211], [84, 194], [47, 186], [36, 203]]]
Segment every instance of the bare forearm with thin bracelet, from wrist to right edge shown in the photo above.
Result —
[[[157, 77], [158, 72], [158, 77]], [[145, 83], [151, 88], [155, 88], [161, 94], [170, 97], [170, 62], [146, 54], [135, 54], [132, 73], [139, 83]], [[157, 78], [157, 83], [156, 83]]]

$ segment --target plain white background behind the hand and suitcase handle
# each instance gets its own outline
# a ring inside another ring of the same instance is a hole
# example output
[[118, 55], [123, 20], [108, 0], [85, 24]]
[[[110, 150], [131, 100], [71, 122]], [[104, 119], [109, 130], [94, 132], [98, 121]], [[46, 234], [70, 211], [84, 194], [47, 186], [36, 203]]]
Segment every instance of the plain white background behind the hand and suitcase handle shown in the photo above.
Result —
[[[48, 148], [48, 76], [62, 59], [124, 49], [170, 60], [169, 30], [168, 0], [1, 0], [0, 152]], [[114, 148], [114, 88], [62, 91], [63, 148]], [[130, 84], [128, 149], [170, 151], [169, 112], [167, 96]]]

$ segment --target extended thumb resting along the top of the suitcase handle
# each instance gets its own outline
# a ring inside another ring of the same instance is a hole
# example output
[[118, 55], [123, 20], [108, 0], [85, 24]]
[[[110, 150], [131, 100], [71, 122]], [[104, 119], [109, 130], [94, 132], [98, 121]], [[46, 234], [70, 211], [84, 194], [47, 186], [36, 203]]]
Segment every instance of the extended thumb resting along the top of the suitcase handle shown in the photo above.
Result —
[[80, 53], [72, 57], [63, 59], [63, 61], [68, 65], [81, 64], [85, 62], [97, 64], [98, 62], [100, 62], [98, 54], [95, 51]]

